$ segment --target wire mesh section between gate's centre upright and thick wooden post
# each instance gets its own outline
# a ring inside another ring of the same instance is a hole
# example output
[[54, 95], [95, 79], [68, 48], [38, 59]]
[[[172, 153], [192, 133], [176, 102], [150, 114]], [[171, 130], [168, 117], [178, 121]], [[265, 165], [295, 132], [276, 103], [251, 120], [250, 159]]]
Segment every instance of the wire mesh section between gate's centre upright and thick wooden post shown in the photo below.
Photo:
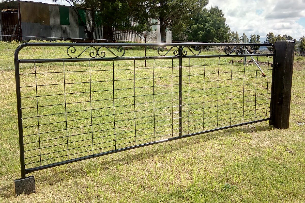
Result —
[[[270, 117], [272, 60], [188, 59], [182, 75], [183, 134]], [[184, 63], [185, 64], [185, 63]], [[261, 70], [258, 68], [260, 66]]]

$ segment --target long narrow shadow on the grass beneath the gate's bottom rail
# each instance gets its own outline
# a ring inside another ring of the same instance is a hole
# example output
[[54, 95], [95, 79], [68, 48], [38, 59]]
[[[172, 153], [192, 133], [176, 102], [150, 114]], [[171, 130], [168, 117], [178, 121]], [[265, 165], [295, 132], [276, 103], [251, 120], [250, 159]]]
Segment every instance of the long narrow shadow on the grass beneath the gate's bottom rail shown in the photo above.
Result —
[[[229, 128], [222, 131], [216, 131], [212, 133], [206, 133], [203, 135], [197, 135], [193, 137], [187, 138], [186, 141], [185, 138], [182, 138], [180, 140], [172, 141], [172, 142], [166, 142], [166, 143], [160, 143], [158, 146], [150, 146], [145, 147], [145, 150], [142, 150], [140, 152], [136, 153], [130, 153], [130, 154], [124, 154], [124, 152], [120, 152], [120, 157], [112, 157], [109, 160], [101, 160], [96, 159], [96, 161], [91, 161], [90, 163], [82, 163], [83, 165], [80, 165], [80, 167], [69, 167], [69, 164], [66, 166], [65, 169], [51, 169], [52, 171], [50, 173], [44, 173], [41, 177], [36, 177], [37, 181], [41, 181], [44, 184], [48, 185], [54, 185], [56, 183], [62, 182], [64, 180], [67, 180], [69, 178], [76, 178], [76, 177], [85, 177], [88, 173], [93, 172], [97, 168], [99, 170], [108, 170], [113, 167], [116, 167], [118, 164], [126, 165], [133, 163], [134, 161], [141, 161], [144, 159], [148, 159], [151, 157], [158, 156], [160, 154], [168, 154], [170, 152], [174, 152], [176, 150], [188, 147], [190, 145], [198, 144], [200, 142], [206, 142], [208, 140], [212, 140], [215, 138], [220, 137], [226, 137], [230, 136], [233, 133], [252, 133], [252, 132], [259, 132], [259, 131], [268, 131], [271, 130], [272, 127], [268, 125], [262, 125], [262, 126], [255, 126], [255, 125], [248, 125], [248, 126], [241, 126], [236, 128]], [[132, 149], [137, 150], [137, 149]], [[107, 155], [112, 156], [112, 155]], [[64, 166], [62, 166], [64, 167]], [[52, 176], [52, 179], [49, 177]]]

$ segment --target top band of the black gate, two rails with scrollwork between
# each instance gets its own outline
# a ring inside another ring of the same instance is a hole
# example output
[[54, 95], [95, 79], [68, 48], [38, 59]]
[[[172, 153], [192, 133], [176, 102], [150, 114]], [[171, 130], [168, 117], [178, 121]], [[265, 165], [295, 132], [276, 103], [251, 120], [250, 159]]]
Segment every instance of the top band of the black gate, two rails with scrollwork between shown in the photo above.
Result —
[[[60, 58], [43, 59], [19, 59], [20, 51], [25, 47], [67, 47], [66, 56]], [[77, 50], [77, 47], [84, 47]], [[157, 48], [156, 56], [125, 56], [125, 48], [145, 47]], [[224, 54], [201, 54], [202, 48], [221, 47]], [[257, 47], [272, 47], [271, 53], [260, 54]], [[110, 49], [112, 48], [112, 49]], [[115, 48], [113, 50], [113, 48]], [[86, 53], [85, 53], [86, 52]], [[89, 54], [87, 54], [87, 52]], [[109, 54], [109, 56], [106, 56]], [[84, 55], [87, 54], [87, 55]], [[170, 43], [170, 44], [143, 44], [143, 43], [24, 43], [15, 51], [15, 61], [18, 63], [42, 63], [67, 61], [104, 61], [104, 60], [142, 60], [154, 58], [203, 58], [203, 57], [230, 57], [238, 56], [274, 56], [275, 47], [273, 44], [221, 44], [221, 43]]]

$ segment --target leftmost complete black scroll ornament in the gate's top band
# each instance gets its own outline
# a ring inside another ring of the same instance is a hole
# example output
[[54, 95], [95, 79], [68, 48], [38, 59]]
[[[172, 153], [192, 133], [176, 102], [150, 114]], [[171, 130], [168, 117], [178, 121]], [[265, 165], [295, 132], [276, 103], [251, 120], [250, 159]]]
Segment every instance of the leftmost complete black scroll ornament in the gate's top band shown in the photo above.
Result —
[[105, 51], [102, 51], [101, 48], [106, 48], [111, 54], [113, 54], [114, 56], [116, 57], [123, 57], [124, 54], [125, 54], [125, 48], [124, 47], [117, 47], [117, 52], [118, 53], [122, 53], [121, 55], [117, 55], [115, 54], [113, 51], [111, 51], [108, 47], [104, 47], [104, 46], [101, 46], [99, 48], [96, 48], [96, 47], [93, 47], [93, 46], [90, 46], [90, 47], [86, 47], [80, 54], [78, 54], [77, 56], [73, 57], [70, 55], [70, 52], [71, 53], [75, 53], [76, 52], [76, 48], [74, 46], [70, 46], [67, 48], [67, 55], [70, 57], [70, 58], [78, 58], [80, 57], [87, 49], [93, 49], [93, 51], [90, 51], [89, 52], [89, 56], [91, 58], [96, 58], [96, 57], [99, 57], [99, 58], [104, 58], [106, 56], [106, 52]]

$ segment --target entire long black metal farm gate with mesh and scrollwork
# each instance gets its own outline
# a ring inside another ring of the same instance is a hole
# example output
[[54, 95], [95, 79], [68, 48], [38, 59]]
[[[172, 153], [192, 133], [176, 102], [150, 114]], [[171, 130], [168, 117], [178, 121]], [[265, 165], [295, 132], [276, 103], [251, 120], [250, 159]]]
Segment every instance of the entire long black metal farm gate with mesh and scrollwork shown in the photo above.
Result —
[[22, 177], [269, 120], [273, 56], [242, 44], [22, 44]]

